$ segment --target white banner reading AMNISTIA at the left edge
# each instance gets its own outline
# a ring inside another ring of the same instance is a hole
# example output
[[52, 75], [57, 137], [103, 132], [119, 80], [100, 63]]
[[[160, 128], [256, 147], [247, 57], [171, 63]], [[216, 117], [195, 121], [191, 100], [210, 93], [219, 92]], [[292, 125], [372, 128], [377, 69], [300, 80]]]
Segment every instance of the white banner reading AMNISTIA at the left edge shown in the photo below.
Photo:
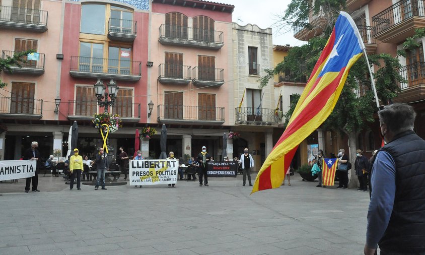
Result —
[[0, 161], [0, 180], [13, 180], [35, 175], [36, 160], [2, 160]]

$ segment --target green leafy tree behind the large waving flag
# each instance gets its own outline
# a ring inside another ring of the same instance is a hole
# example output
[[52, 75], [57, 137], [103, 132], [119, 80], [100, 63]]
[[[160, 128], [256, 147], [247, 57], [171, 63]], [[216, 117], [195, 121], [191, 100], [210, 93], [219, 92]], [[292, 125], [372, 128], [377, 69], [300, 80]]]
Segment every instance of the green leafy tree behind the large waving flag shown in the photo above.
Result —
[[[290, 70], [294, 79], [302, 76], [309, 77], [332, 31], [338, 12], [343, 10], [344, 6], [345, 1], [338, 0], [315, 0], [314, 6], [312, 1], [293, 0], [285, 15], [281, 17], [282, 24], [313, 29], [310, 24], [306, 24], [309, 15], [323, 12], [329, 29], [324, 30], [323, 36], [313, 37], [305, 45], [292, 47], [285, 62], [282, 61], [273, 69], [265, 71], [265, 75], [260, 78], [260, 88], [267, 86], [269, 79], [285, 70]], [[377, 67], [373, 78], [376, 81], [379, 99], [386, 103], [396, 96], [400, 90], [398, 84], [403, 82], [398, 72], [401, 67], [398, 58], [389, 54], [376, 54], [369, 55], [369, 61], [371, 65]], [[293, 110], [294, 108], [290, 108], [286, 116], [290, 116]], [[373, 113], [377, 110], [366, 60], [360, 58], [351, 67], [338, 102], [321, 128], [333, 130], [348, 137], [350, 160], [353, 162], [356, 159], [356, 138], [368, 122], [374, 121]], [[357, 187], [355, 177], [355, 171], [351, 170], [350, 188]]]

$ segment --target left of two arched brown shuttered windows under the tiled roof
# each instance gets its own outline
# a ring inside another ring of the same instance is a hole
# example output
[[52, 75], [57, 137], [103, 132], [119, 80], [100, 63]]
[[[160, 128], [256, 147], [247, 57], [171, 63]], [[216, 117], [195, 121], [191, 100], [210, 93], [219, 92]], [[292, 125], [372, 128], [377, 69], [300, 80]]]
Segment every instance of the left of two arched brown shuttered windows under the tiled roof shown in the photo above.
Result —
[[165, 15], [165, 37], [187, 39], [187, 16], [181, 13]]

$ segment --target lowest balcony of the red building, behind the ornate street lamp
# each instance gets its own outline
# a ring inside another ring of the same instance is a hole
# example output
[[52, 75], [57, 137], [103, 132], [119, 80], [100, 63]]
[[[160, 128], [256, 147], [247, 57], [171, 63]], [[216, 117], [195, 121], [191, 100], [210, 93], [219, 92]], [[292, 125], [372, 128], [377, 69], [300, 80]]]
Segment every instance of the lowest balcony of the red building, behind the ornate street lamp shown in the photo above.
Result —
[[[120, 102], [118, 97], [109, 109], [110, 113], [118, 114], [124, 122], [140, 120], [140, 103]], [[97, 105], [96, 98], [85, 101], [68, 100], [67, 117], [69, 120], [91, 120], [97, 112], [100, 112], [100, 107]]]

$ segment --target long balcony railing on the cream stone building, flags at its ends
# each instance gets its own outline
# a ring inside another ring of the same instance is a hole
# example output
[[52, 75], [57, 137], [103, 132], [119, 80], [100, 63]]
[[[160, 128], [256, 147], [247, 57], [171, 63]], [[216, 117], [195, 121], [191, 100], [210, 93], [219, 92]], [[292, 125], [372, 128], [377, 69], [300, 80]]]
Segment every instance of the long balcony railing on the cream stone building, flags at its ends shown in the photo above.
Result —
[[236, 125], [276, 125], [282, 120], [282, 113], [276, 109], [257, 107], [236, 107]]

